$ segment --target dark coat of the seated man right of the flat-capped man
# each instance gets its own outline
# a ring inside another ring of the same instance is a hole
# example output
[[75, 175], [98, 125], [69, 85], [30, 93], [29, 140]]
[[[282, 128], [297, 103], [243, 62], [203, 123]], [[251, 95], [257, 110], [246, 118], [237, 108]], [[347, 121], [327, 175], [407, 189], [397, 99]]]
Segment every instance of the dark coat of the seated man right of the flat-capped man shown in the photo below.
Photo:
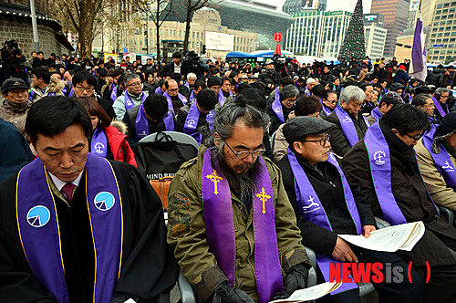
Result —
[[[381, 122], [381, 120], [380, 120]], [[436, 206], [432, 204], [430, 196], [421, 179], [414, 152], [404, 152], [403, 156], [396, 155], [391, 150], [391, 141], [400, 139], [388, 129], [381, 126], [386, 140], [389, 142], [391, 154], [391, 189], [394, 198], [407, 222], [422, 221], [426, 225], [426, 232], [411, 252], [398, 251], [406, 262], [413, 261], [413, 266], [446, 266], [456, 264], [451, 250], [447, 246], [456, 245], [456, 228], [440, 219]], [[389, 134], [387, 134], [389, 132]], [[396, 137], [396, 138], [395, 138]], [[392, 138], [390, 140], [389, 138]], [[400, 141], [402, 142], [402, 141]], [[394, 144], [400, 144], [394, 143]], [[405, 143], [402, 142], [405, 145]], [[409, 156], [415, 160], [409, 161]], [[371, 206], [372, 213], [384, 218], [377, 192], [372, 181], [368, 151], [364, 140], [358, 141], [342, 159], [344, 170], [353, 182], [361, 186]]]

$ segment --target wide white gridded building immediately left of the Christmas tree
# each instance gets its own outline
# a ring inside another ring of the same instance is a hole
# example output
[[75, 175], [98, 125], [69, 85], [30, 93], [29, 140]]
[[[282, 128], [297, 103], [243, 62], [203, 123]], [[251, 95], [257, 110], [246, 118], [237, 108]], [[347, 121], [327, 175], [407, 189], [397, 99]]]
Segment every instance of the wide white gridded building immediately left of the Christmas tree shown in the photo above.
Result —
[[295, 55], [337, 57], [352, 13], [302, 11], [286, 31], [285, 49]]

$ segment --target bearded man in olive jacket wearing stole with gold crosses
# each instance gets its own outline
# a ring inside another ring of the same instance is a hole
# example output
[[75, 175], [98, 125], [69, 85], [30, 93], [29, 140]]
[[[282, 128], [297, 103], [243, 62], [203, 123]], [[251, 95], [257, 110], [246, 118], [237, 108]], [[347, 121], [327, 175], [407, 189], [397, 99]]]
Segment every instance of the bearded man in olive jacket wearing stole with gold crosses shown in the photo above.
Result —
[[250, 105], [225, 104], [213, 143], [172, 180], [168, 243], [202, 302], [267, 303], [305, 287], [310, 265], [281, 173], [261, 157], [267, 124]]

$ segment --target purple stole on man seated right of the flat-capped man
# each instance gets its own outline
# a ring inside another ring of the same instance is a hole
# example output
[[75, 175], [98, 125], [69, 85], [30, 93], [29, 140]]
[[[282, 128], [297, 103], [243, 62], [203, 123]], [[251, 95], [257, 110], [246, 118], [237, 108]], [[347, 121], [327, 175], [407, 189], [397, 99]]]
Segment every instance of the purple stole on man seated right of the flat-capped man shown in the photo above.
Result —
[[378, 122], [374, 123], [366, 132], [364, 144], [368, 150], [372, 182], [374, 183], [378, 203], [380, 204], [385, 220], [391, 225], [407, 223], [393, 195], [389, 146], [380, 130]]

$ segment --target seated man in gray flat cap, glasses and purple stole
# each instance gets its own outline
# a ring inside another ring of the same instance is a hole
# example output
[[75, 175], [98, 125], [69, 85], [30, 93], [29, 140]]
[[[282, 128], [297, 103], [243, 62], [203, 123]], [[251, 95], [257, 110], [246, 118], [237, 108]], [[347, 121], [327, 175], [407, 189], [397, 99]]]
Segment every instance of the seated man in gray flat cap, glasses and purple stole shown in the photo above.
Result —
[[[327, 132], [335, 124], [314, 117], [295, 117], [284, 125], [289, 143], [287, 155], [277, 163], [284, 178], [285, 191], [295, 209], [303, 245], [315, 250], [317, 283], [329, 280], [329, 264], [339, 262], [379, 262], [407, 264], [391, 253], [349, 245], [338, 235], [364, 235], [376, 230], [376, 222], [365, 195], [352, 183], [331, 153]], [[422, 282], [412, 272], [413, 284], [374, 283], [380, 302], [420, 302]], [[361, 302], [355, 283], [344, 283], [322, 302]]]

